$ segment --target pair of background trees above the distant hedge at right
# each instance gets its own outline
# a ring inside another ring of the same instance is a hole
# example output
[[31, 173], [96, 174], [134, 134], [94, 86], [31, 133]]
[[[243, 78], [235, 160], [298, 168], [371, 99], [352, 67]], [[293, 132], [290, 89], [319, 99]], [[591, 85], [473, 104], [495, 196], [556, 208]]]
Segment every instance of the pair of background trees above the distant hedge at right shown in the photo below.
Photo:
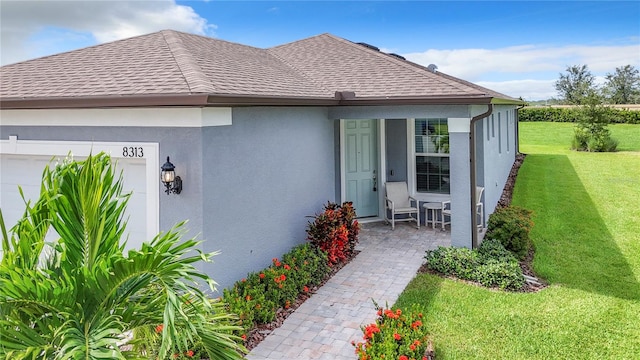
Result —
[[567, 66], [555, 82], [560, 99], [571, 105], [586, 105], [594, 98], [608, 104], [637, 104], [640, 102], [640, 72], [632, 65], [617, 67], [607, 73], [602, 86], [595, 84], [595, 77], [587, 65]]

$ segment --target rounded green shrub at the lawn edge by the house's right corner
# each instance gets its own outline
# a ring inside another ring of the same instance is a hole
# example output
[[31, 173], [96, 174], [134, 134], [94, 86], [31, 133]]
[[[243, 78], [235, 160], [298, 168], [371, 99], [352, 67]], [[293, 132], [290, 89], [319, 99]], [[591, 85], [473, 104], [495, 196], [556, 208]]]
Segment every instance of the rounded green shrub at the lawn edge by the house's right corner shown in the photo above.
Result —
[[531, 248], [529, 232], [533, 227], [531, 211], [518, 207], [497, 208], [489, 216], [485, 239], [496, 239], [518, 257], [524, 259]]

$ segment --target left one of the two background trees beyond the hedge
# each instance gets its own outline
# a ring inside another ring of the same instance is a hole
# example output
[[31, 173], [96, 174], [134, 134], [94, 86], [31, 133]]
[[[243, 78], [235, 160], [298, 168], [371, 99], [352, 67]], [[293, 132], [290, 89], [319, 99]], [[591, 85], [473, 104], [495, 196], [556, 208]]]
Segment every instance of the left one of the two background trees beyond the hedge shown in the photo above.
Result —
[[567, 66], [566, 73], [560, 74], [555, 87], [566, 103], [581, 105], [590, 91], [595, 90], [594, 77], [587, 65]]

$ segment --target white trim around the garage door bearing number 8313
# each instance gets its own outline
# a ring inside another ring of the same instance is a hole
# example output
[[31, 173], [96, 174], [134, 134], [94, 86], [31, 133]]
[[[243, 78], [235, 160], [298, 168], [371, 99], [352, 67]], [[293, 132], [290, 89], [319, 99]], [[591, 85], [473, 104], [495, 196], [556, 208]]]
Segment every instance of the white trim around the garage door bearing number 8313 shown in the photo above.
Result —
[[[45, 140], [18, 140], [16, 136], [10, 136], [9, 140], [0, 140], [0, 154], [15, 155], [43, 155], [53, 157], [88, 156], [91, 153], [104, 151], [113, 159], [130, 158], [124, 156], [124, 149], [140, 149], [136, 159], [145, 160], [145, 184], [146, 184], [146, 230], [147, 238], [155, 236], [160, 228], [160, 145], [148, 142], [89, 142], [89, 141], [45, 141]], [[139, 150], [137, 150], [139, 151]]]

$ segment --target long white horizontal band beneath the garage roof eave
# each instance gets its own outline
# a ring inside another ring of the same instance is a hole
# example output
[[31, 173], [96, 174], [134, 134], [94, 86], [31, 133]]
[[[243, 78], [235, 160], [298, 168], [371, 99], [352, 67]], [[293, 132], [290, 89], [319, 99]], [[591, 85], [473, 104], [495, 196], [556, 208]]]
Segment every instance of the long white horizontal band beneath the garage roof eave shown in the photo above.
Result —
[[225, 108], [0, 110], [2, 126], [208, 127], [231, 125]]

